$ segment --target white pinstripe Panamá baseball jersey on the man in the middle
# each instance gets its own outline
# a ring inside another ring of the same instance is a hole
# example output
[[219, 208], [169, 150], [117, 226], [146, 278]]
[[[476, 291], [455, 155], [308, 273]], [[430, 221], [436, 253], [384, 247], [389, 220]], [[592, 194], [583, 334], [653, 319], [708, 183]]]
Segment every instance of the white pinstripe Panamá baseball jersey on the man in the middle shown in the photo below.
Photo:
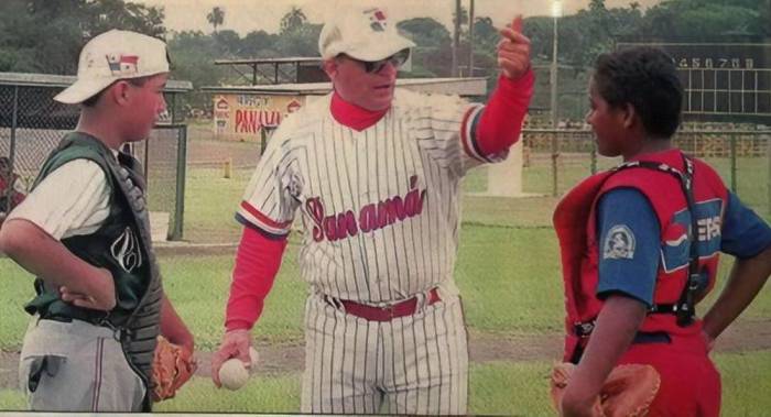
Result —
[[372, 304], [436, 286], [457, 293], [459, 182], [490, 161], [469, 133], [482, 107], [398, 90], [359, 132], [333, 118], [330, 98], [279, 128], [237, 218], [285, 235], [300, 209], [300, 264], [315, 292]]

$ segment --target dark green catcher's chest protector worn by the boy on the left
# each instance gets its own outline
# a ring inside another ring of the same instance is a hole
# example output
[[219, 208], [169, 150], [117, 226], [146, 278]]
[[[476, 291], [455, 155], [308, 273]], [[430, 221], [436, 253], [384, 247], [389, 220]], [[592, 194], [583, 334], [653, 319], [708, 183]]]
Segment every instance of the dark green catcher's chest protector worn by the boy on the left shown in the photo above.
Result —
[[[152, 389], [152, 361], [160, 333], [163, 288], [158, 262], [152, 251], [150, 221], [144, 199], [144, 178], [137, 160], [123, 153], [117, 157], [101, 142], [83, 133], [67, 134], [43, 165], [34, 187], [57, 167], [74, 160], [98, 164], [110, 186], [110, 212], [94, 233], [62, 239], [76, 256], [112, 273], [117, 306], [109, 312], [75, 307], [58, 298], [39, 277], [37, 297], [25, 306], [41, 318], [84, 320], [116, 330], [132, 369]], [[152, 402], [145, 395], [143, 409]]]

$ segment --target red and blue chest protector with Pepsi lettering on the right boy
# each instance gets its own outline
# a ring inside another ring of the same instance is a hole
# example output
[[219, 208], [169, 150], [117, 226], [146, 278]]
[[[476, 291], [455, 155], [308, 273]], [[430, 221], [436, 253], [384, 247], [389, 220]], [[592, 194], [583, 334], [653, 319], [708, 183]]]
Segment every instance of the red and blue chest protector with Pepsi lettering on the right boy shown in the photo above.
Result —
[[[665, 164], [685, 172], [683, 156], [677, 150], [648, 154], [639, 161]], [[692, 244], [687, 231], [692, 223], [692, 210], [688, 210], [680, 179], [671, 173], [645, 167], [628, 167], [587, 178], [563, 198], [554, 215], [565, 282], [565, 360], [573, 359], [576, 349], [585, 347], [593, 321], [602, 307], [602, 300], [597, 297], [599, 255], [606, 253], [608, 256], [622, 257], [629, 250], [634, 249], [634, 242], [628, 241], [629, 235], [622, 231], [618, 233], [618, 245], [600, 242], [597, 231], [598, 201], [606, 194], [621, 188], [641, 193], [658, 219], [661, 256], [656, 270], [653, 305], [676, 305], [686, 285]], [[728, 190], [717, 173], [697, 160], [694, 161], [692, 189], [696, 235], [699, 239], [698, 271], [705, 278], [703, 290], [697, 294], [698, 299], [709, 292], [715, 283]], [[608, 251], [611, 253], [608, 254]], [[674, 314], [651, 314], [640, 330], [686, 334], [698, 332], [699, 329], [701, 326], [677, 326]]]

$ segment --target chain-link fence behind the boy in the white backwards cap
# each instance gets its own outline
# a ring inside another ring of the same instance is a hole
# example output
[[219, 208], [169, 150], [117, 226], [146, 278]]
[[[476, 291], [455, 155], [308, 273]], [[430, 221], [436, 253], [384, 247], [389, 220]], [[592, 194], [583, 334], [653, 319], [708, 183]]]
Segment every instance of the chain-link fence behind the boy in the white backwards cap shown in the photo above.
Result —
[[[47, 83], [32, 85], [29, 79], [34, 75], [24, 75], [21, 83], [3, 76], [8, 75], [0, 74], [0, 211], [7, 213], [30, 190], [64, 134], [75, 129], [78, 109], [53, 100], [68, 85], [62, 78], [68, 77], [41, 76]], [[130, 146], [144, 165], [151, 217], [167, 224], [172, 240], [183, 233], [186, 140], [186, 125], [165, 124], [156, 127], [148, 141]]]

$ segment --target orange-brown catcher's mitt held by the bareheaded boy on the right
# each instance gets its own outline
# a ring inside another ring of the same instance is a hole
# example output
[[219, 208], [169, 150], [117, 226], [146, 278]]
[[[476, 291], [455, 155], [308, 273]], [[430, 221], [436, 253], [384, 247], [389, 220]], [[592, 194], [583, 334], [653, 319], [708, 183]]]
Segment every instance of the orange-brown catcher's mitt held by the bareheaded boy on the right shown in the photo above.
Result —
[[[552, 370], [551, 394], [554, 407], [562, 414], [562, 397], [575, 370], [572, 363], [557, 363]], [[613, 367], [602, 384], [594, 406], [594, 415], [601, 417], [644, 416], [653, 403], [661, 377], [651, 365], [628, 364]]]

